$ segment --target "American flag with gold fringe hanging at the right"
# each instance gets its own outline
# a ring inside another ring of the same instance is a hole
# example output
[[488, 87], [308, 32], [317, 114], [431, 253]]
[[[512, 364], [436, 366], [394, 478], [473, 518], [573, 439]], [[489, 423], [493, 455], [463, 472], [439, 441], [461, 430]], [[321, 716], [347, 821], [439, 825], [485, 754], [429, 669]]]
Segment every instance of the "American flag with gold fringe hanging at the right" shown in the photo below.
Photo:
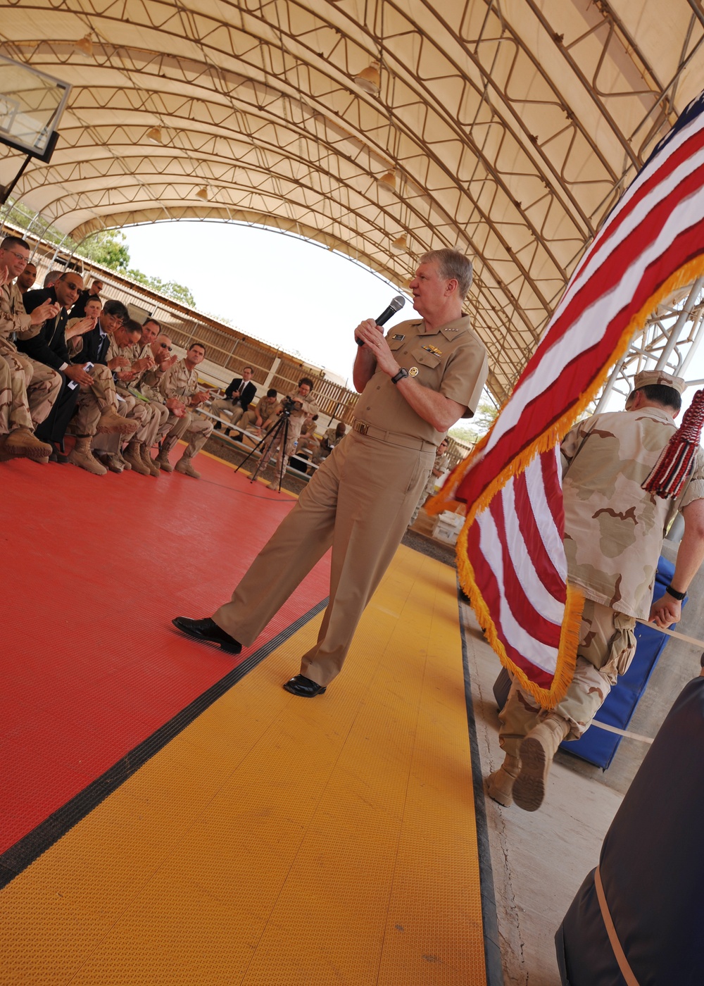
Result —
[[466, 504], [460, 583], [544, 708], [572, 679], [584, 604], [567, 579], [559, 442], [657, 305], [704, 273], [703, 110], [704, 93], [612, 210], [488, 436], [433, 503]]

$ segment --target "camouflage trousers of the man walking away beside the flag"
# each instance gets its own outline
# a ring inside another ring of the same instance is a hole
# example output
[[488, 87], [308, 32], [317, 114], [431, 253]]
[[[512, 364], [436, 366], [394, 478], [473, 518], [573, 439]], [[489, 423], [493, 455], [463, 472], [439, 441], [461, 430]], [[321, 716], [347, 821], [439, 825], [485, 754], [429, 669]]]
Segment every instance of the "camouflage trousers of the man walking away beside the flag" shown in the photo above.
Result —
[[592, 599], [585, 601], [577, 648], [575, 676], [567, 694], [552, 710], [541, 709], [514, 679], [506, 705], [499, 713], [499, 742], [503, 749], [518, 756], [521, 741], [548, 712], [561, 716], [570, 726], [568, 740], [579, 740], [606, 699], [616, 677], [633, 660], [636, 621]]

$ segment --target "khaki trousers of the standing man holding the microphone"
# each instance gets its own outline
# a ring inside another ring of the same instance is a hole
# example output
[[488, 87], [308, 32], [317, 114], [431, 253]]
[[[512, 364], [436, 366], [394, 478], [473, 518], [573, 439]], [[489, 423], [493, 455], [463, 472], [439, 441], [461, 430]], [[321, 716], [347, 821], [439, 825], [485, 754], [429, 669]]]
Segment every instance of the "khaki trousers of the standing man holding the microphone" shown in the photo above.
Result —
[[352, 432], [326, 458], [296, 506], [213, 619], [253, 644], [328, 548], [330, 599], [301, 673], [327, 684], [339, 672], [365, 606], [398, 547], [435, 460]]

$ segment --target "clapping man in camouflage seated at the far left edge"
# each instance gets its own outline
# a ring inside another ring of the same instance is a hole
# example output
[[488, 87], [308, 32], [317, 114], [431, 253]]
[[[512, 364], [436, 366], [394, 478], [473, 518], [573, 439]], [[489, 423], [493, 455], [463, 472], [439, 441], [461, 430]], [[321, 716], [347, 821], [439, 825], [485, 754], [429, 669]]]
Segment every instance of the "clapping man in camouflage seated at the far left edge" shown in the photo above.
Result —
[[[15, 344], [18, 334], [36, 334], [47, 317], [58, 314], [58, 305], [44, 302], [32, 315], [25, 312], [22, 295], [14, 278], [25, 269], [30, 247], [19, 237], [6, 237], [0, 244], [0, 356], [12, 377], [10, 390], [14, 427], [10, 449], [13, 455], [45, 461], [53, 447], [39, 440], [33, 432], [50, 414], [63, 378], [60, 373], [36, 363], [19, 353]], [[48, 450], [48, 451], [47, 451]]]

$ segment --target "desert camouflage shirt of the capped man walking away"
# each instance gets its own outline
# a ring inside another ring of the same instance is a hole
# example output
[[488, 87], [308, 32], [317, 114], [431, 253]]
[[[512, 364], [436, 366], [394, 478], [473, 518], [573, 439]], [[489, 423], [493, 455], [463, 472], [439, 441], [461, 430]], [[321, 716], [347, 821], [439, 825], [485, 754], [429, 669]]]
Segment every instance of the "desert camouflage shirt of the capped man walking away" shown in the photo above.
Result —
[[704, 457], [676, 501], [641, 489], [676, 425], [667, 411], [596, 414], [562, 442], [565, 552], [587, 599], [647, 619], [663, 538], [677, 510], [704, 498]]

